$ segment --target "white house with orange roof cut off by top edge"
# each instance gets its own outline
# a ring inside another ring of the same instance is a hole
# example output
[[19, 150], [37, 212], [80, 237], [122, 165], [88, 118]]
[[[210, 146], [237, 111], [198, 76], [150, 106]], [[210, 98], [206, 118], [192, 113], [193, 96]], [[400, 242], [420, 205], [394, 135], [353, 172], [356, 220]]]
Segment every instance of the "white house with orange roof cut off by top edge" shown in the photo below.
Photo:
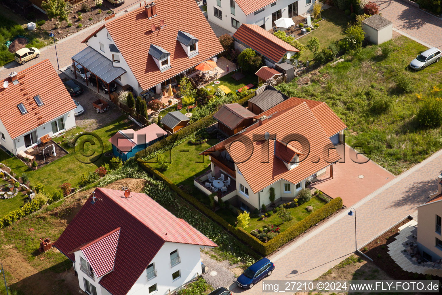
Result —
[[312, 9], [314, 0], [207, 0], [207, 17], [232, 33], [248, 23], [269, 31], [274, 21], [292, 18]]

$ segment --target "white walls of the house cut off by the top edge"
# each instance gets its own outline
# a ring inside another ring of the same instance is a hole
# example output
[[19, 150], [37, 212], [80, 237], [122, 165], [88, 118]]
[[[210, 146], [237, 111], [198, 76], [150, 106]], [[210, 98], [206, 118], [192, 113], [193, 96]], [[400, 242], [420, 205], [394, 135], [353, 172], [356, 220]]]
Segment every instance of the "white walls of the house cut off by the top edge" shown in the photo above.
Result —
[[[236, 28], [232, 27], [231, 18], [236, 19], [240, 22], [240, 25], [243, 23], [248, 23], [251, 25], [261, 26], [265, 23], [266, 31], [271, 30], [272, 28], [272, 13], [281, 9], [282, 17], [289, 17], [289, 8], [288, 5], [292, 4], [296, 1], [294, 0], [277, 0], [276, 5], [273, 7], [271, 4], [265, 6], [264, 11], [259, 12], [255, 15], [252, 12], [249, 15], [245, 15], [244, 12], [240, 9], [239, 5], [235, 2], [235, 15], [230, 12], [230, 0], [221, 0], [221, 8], [217, 6], [217, 0], [207, 0], [207, 17], [212, 23], [216, 23], [218, 26], [225, 28], [226, 30], [235, 33]], [[298, 15], [302, 15], [305, 12], [312, 9], [312, 3], [306, 4], [306, 0], [298, 1]], [[217, 18], [214, 15], [213, 7], [218, 8], [222, 11], [222, 20]]]

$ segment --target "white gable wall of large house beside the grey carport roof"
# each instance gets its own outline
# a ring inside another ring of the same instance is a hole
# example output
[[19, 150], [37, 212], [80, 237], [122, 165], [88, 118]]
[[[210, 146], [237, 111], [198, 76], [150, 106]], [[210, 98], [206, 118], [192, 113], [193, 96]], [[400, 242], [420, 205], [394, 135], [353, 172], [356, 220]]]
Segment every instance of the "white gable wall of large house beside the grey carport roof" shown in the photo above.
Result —
[[[108, 59], [112, 60], [113, 53], [110, 52], [109, 45], [110, 44], [114, 44], [115, 46], [117, 46], [117, 45], [114, 43], [113, 40], [109, 40], [107, 38], [106, 27], [104, 27], [96, 35], [97, 35], [97, 37], [92, 36], [88, 40], [88, 45], [91, 46], [93, 49], [97, 50], [99, 53], [103, 54]], [[100, 42], [104, 45], [104, 52], [102, 50], [100, 50]], [[146, 48], [149, 49], [149, 46], [147, 46]], [[122, 85], [129, 84], [130, 86], [132, 86], [133, 90], [136, 91], [137, 94], [139, 94], [141, 91], [143, 91], [143, 89], [141, 89], [141, 87], [139, 86], [137, 79], [135, 78], [132, 71], [130, 70], [130, 67], [127, 64], [126, 60], [124, 59], [123, 55], [121, 53], [114, 53], [114, 54], [118, 54], [120, 56], [120, 63], [118, 64], [118, 63], [114, 62], [113, 65], [116, 67], [121, 67], [126, 70], [126, 73], [124, 73], [121, 76], [121, 84]]]

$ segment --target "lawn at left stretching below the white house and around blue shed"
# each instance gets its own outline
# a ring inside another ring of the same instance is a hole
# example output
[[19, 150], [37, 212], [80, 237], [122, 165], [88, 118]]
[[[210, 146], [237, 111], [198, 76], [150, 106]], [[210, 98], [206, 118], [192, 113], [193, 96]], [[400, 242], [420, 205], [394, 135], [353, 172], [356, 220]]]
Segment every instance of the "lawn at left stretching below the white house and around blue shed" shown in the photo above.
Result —
[[[27, 165], [24, 165], [24, 163], [18, 158], [11, 157], [3, 151], [0, 151], [0, 161], [4, 165], [10, 167], [17, 176], [21, 176], [23, 172], [26, 172], [31, 184], [36, 184], [37, 182], [45, 184], [45, 192], [48, 193], [58, 189], [58, 186], [65, 182], [69, 182], [72, 186], [77, 186], [83, 172], [93, 172], [104, 162], [108, 162], [110, 158], [113, 157], [113, 155], [110, 157], [104, 156], [105, 152], [111, 151], [110, 142], [107, 140], [118, 130], [127, 129], [131, 125], [130, 123], [132, 123], [132, 121], [126, 119], [126, 116], [121, 116], [109, 125], [95, 130], [94, 133], [101, 138], [103, 146], [100, 145], [99, 141], [92, 135], [82, 136], [80, 138], [80, 143], [77, 144], [75, 149], [78, 151], [79, 147], [83, 146], [84, 143], [85, 154], [92, 154], [95, 152], [91, 157], [83, 157], [80, 155], [80, 152], [74, 153], [74, 148], [70, 148], [65, 142], [62, 142], [61, 146], [66, 149], [69, 154], [35, 171], [30, 169]], [[80, 133], [81, 131], [84, 130], [79, 127], [69, 130], [66, 132], [66, 138], [70, 134]], [[55, 142], [62, 141], [63, 139], [64, 138], [61, 137], [53, 138]], [[91, 144], [88, 141], [93, 142], [94, 144]], [[102, 149], [103, 155], [100, 157]], [[80, 161], [77, 160], [76, 156]], [[94, 162], [89, 164], [88, 162], [90, 161]]]

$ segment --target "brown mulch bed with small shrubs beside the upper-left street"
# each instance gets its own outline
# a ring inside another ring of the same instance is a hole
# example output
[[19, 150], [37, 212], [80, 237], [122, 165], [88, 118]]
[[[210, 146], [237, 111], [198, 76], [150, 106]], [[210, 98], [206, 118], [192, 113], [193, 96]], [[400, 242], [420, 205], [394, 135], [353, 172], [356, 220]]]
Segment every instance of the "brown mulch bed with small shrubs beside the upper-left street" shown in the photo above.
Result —
[[[90, 8], [90, 11], [88, 12], [82, 11], [81, 7], [83, 4], [87, 4], [88, 7]], [[99, 13], [99, 9], [101, 9], [101, 13]], [[58, 23], [56, 19], [51, 21], [50, 19], [48, 20], [47, 18], [45, 18], [46, 23], [42, 25], [41, 28], [46, 31], [53, 30], [55, 38], [57, 40], [60, 40], [61, 38], [74, 34], [86, 27], [91, 26], [94, 23], [98, 23], [99, 21], [103, 20], [105, 17], [115, 13], [112, 9], [109, 9], [104, 5], [102, 5], [101, 8], [96, 8], [94, 0], [88, 0], [86, 2], [83, 2], [82, 4], [76, 5], [72, 7], [72, 11], [73, 13], [69, 13], [69, 19], [72, 21], [72, 27], [68, 27], [68, 22], [66, 21]], [[107, 13], [107, 11], [111, 11], [111, 13]], [[81, 13], [83, 19], [78, 20], [78, 12]], [[89, 18], [92, 18], [92, 20], [89, 20]], [[56, 28], [57, 23], [58, 23], [58, 28]], [[81, 28], [78, 27], [80, 23], [82, 24]]]

